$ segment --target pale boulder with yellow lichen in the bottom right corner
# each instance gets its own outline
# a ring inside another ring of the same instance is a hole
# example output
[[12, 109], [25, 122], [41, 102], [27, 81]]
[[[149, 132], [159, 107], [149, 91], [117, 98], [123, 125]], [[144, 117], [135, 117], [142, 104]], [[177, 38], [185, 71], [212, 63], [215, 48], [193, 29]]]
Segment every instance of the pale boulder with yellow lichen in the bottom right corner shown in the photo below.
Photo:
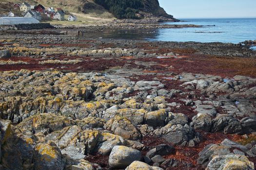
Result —
[[206, 170], [254, 170], [254, 163], [246, 156], [220, 155], [210, 161]]

